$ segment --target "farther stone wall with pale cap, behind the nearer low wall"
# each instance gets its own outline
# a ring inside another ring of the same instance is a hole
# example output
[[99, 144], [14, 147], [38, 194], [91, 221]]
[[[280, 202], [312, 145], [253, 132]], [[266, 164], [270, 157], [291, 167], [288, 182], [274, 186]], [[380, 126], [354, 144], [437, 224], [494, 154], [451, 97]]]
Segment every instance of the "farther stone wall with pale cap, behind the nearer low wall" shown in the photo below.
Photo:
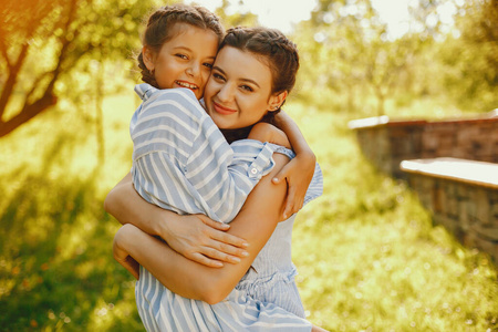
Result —
[[405, 178], [405, 159], [456, 157], [498, 163], [498, 112], [467, 120], [350, 122], [363, 154], [382, 172]]

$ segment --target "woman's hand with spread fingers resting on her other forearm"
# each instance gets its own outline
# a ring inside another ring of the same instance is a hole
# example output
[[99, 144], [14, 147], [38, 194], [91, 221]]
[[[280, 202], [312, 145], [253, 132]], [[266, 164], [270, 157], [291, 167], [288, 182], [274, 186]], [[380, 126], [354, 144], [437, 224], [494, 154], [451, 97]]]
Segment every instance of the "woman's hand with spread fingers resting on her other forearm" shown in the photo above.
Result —
[[172, 249], [198, 263], [220, 268], [222, 262], [238, 263], [247, 257], [248, 242], [226, 232], [229, 225], [204, 215], [168, 218], [159, 235]]

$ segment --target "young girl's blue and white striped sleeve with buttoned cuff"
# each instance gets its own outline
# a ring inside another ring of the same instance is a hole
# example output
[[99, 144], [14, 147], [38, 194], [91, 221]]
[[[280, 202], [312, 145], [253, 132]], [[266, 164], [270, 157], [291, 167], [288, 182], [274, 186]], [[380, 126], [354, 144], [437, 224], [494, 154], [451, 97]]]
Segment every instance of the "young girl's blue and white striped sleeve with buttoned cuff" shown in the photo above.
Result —
[[221, 132], [209, 125], [194, 143], [197, 148], [187, 165], [187, 178], [217, 216], [230, 222], [247, 196], [274, 166], [273, 149], [268, 143], [243, 139], [228, 145]]

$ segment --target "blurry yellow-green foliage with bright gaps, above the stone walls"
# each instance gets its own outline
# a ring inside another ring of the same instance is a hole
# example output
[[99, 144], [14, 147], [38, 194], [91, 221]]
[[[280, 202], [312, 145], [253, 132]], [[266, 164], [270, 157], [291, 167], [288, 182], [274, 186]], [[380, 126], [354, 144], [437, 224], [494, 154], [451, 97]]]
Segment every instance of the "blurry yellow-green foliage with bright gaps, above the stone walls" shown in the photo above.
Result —
[[365, 116], [384, 114], [390, 101], [426, 96], [473, 112], [495, 108], [497, 1], [419, 0], [408, 9], [409, 29], [393, 38], [369, 0], [319, 1], [293, 37], [307, 77], [300, 95]]

